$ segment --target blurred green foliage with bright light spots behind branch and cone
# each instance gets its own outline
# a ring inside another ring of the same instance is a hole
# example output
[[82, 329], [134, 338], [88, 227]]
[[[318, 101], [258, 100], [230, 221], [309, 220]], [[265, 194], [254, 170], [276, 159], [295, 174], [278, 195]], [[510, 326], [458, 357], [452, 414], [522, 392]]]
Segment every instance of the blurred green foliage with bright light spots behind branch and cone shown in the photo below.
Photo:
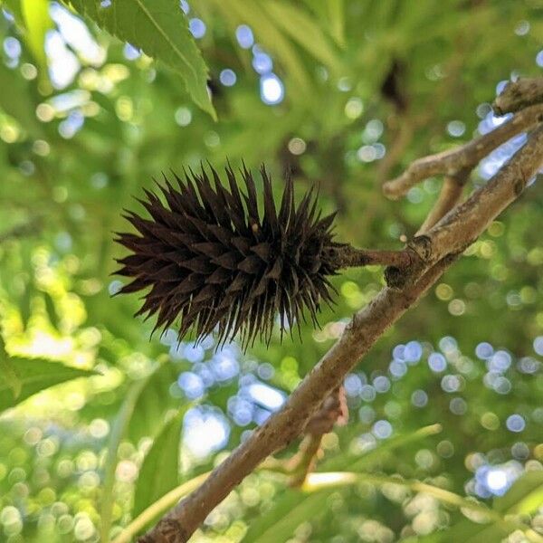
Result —
[[[319, 186], [338, 239], [399, 248], [440, 180], [395, 203], [380, 184], [492, 129], [501, 82], [543, 67], [538, 0], [67, 5], [83, 16], [47, 0], [4, 0], [0, 15], [9, 543], [129, 540], [281, 405], [383, 285], [379, 269], [338, 276], [337, 307], [301, 342], [243, 355], [174, 330], [149, 339], [110, 273], [122, 209], [153, 177], [263, 161], [278, 194], [287, 170], [298, 194]], [[255, 472], [195, 541], [543, 540], [538, 185], [347, 377], [349, 423], [325, 436], [305, 487]]]

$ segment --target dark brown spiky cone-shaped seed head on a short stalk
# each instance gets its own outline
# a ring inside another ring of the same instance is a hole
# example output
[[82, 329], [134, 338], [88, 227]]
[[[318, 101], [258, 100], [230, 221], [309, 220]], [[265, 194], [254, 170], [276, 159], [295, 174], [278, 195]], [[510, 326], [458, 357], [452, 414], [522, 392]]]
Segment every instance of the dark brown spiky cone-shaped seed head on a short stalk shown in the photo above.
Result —
[[132, 279], [119, 293], [147, 291], [137, 315], [156, 315], [155, 329], [178, 321], [179, 339], [192, 331], [199, 341], [216, 330], [218, 345], [238, 334], [243, 348], [255, 338], [269, 343], [277, 315], [281, 338], [306, 314], [318, 326], [321, 302], [333, 301], [329, 276], [374, 263], [381, 253], [334, 242], [335, 214], [321, 217], [312, 189], [295, 205], [290, 176], [277, 208], [261, 168], [261, 213], [245, 167], [244, 193], [231, 167], [225, 169], [229, 188], [209, 170], [191, 171], [185, 180], [173, 174], [177, 187], [165, 176], [166, 204], [146, 190], [139, 201], [148, 218], [124, 215], [137, 233], [116, 240], [131, 252], [118, 261], [116, 273]]

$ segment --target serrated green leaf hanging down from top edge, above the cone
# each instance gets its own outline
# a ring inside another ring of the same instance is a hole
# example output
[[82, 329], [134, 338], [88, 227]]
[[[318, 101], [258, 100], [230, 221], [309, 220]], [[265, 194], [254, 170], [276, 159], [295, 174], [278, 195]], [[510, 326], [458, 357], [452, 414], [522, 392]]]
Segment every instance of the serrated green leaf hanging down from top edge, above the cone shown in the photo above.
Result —
[[123, 42], [176, 71], [195, 103], [216, 119], [207, 91], [208, 70], [176, 0], [63, 0]]

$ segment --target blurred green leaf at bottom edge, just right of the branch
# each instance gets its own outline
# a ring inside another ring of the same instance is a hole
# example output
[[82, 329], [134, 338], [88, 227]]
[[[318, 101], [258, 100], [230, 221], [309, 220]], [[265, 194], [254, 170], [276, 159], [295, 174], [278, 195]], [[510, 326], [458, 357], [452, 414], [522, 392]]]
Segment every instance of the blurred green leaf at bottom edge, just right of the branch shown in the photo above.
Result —
[[284, 491], [270, 510], [252, 521], [243, 543], [287, 541], [302, 522], [328, 513], [325, 502], [333, 491], [329, 489], [310, 494], [291, 489]]

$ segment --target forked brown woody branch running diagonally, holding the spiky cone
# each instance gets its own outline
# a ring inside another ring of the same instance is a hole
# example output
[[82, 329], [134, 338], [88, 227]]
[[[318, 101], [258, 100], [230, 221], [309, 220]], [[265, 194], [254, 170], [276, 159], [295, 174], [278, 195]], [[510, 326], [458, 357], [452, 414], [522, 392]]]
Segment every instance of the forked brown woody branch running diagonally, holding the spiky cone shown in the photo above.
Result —
[[[296, 475], [292, 483], [303, 482], [318, 454], [323, 432], [331, 429], [330, 424], [311, 425], [311, 421], [319, 421], [319, 414], [325, 409], [323, 398], [333, 400], [344, 377], [383, 332], [439, 280], [488, 224], [519, 197], [529, 178], [543, 166], [543, 126], [538, 126], [543, 121], [542, 102], [543, 79], [510, 83], [495, 103], [500, 113], [518, 111], [512, 119], [461, 148], [415, 160], [404, 174], [385, 184], [386, 195], [397, 198], [426, 177], [445, 176], [442, 194], [405, 250], [339, 250], [346, 266], [362, 261], [388, 265], [389, 286], [355, 314], [338, 342], [305, 376], [281, 410], [255, 429], [196, 491], [139, 538], [141, 543], [185, 543], [246, 475], [273, 452], [306, 433], [299, 454], [291, 462]], [[485, 186], [459, 204], [462, 187], [481, 158], [527, 130], [532, 131], [524, 146]], [[332, 400], [331, 405], [337, 409]], [[328, 423], [330, 420], [334, 417]]]

